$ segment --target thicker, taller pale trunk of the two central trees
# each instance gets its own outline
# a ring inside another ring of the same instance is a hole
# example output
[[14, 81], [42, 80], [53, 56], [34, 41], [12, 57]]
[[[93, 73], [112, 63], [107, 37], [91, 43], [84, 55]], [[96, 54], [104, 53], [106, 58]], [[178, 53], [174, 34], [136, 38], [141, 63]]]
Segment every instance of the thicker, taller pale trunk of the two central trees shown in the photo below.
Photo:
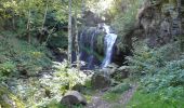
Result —
[[71, 53], [73, 53], [73, 33], [71, 33], [71, 0], [69, 0], [68, 10], [68, 65], [71, 66]]

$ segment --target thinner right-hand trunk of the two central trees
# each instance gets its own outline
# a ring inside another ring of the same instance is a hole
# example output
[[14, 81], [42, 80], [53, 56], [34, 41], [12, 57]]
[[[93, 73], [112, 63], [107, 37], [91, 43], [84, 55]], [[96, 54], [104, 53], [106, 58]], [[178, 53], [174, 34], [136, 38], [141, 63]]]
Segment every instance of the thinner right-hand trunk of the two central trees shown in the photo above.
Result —
[[76, 41], [75, 41], [75, 49], [76, 49], [76, 55], [77, 55], [77, 69], [80, 70], [80, 56], [79, 56], [79, 39], [78, 39], [78, 26], [77, 26], [77, 10], [75, 11], [75, 35], [76, 35]]

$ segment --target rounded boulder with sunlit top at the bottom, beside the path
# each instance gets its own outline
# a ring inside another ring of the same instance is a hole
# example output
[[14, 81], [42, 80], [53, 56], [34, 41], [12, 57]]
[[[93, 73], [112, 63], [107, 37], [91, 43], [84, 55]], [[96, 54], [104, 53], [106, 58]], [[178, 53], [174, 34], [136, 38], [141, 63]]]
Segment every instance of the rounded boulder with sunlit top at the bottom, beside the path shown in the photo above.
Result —
[[87, 99], [77, 91], [68, 91], [62, 98], [61, 104], [69, 107], [78, 104], [87, 105]]

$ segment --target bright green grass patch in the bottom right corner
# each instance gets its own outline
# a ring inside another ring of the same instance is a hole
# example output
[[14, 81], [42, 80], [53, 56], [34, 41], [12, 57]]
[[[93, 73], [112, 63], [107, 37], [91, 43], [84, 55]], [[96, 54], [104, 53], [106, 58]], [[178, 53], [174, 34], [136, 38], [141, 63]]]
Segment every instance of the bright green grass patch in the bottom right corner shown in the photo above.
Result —
[[142, 93], [137, 91], [129, 102], [127, 108], [183, 108], [184, 97], [181, 99], [165, 98], [154, 93]]

